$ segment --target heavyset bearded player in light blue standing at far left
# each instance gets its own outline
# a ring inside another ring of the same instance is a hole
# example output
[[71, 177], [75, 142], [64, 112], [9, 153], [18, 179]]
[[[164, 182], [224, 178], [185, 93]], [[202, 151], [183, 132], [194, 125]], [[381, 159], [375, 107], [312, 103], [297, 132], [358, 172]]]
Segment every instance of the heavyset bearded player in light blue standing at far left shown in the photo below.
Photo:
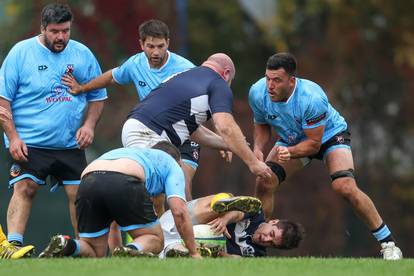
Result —
[[0, 69], [0, 106], [12, 113], [2, 122], [10, 152], [8, 240], [21, 246], [32, 200], [48, 175], [64, 185], [76, 233], [75, 196], [86, 166], [84, 149], [94, 137], [105, 89], [73, 96], [65, 74], [89, 81], [101, 74], [92, 52], [70, 40], [72, 13], [50, 4], [41, 13], [41, 34], [17, 43]]

